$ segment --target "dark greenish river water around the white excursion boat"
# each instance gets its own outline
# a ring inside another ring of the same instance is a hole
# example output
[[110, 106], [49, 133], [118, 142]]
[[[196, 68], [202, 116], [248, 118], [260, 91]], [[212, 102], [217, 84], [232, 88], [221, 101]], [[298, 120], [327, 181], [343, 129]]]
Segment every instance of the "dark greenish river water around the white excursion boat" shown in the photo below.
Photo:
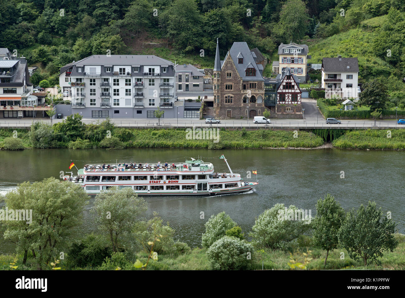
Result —
[[[70, 160], [77, 167], [87, 162], [105, 161], [164, 163], [181, 162], [190, 157], [202, 157], [211, 162], [215, 172], [228, 172], [220, 155], [224, 154], [234, 173], [244, 180], [256, 181], [247, 171], [257, 170], [259, 184], [251, 193], [221, 196], [159, 196], [144, 197], [148, 202], [147, 217], [156, 211], [164, 223], [169, 222], [175, 239], [191, 247], [201, 246], [204, 223], [212, 214], [225, 211], [242, 227], [245, 235], [254, 225], [255, 218], [276, 203], [294, 204], [311, 210], [326, 193], [335, 196], [347, 211], [376, 201], [385, 212], [392, 212], [399, 232], [405, 232], [404, 187], [405, 152], [362, 150], [192, 150], [192, 149], [124, 149], [124, 150], [71, 150], [32, 149], [0, 151], [0, 194], [14, 189], [23, 181], [38, 181], [47, 177], [60, 177], [60, 171], [69, 171]], [[73, 168], [75, 169], [75, 168]], [[342, 173], [342, 171], [344, 173]], [[74, 174], [77, 174], [74, 172]], [[344, 178], [341, 178], [344, 174]], [[95, 232], [97, 227], [89, 210], [94, 199], [85, 208], [83, 234]], [[204, 212], [205, 219], [200, 219]], [[13, 244], [0, 242], [0, 253], [13, 253]]]

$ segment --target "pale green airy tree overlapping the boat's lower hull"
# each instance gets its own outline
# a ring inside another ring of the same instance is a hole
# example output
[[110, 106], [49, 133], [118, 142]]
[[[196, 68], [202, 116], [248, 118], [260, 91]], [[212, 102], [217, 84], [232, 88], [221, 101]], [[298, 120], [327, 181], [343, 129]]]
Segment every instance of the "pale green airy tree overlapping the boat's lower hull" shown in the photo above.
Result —
[[117, 252], [125, 249], [136, 221], [146, 210], [147, 203], [132, 189], [112, 187], [96, 195], [91, 212], [96, 213], [98, 227], [108, 235], [113, 252]]

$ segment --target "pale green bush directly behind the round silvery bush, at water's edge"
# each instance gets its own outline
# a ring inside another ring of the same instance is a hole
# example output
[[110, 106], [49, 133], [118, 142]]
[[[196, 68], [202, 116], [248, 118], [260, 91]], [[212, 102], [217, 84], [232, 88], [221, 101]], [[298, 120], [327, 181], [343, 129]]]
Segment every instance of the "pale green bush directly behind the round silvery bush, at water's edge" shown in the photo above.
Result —
[[236, 226], [236, 223], [224, 211], [211, 215], [205, 223], [205, 233], [201, 237], [203, 247], [210, 247], [215, 241], [226, 235], [226, 231]]

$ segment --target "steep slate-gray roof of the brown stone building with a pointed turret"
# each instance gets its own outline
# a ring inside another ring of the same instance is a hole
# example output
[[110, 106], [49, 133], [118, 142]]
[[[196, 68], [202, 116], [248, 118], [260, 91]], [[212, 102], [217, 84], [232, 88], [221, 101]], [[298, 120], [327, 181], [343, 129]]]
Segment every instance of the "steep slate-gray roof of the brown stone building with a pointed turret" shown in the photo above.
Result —
[[[233, 43], [232, 47], [226, 54], [226, 57], [228, 54], [231, 56], [236, 69], [239, 73], [239, 76], [243, 80], [249, 80], [249, 81], [263, 81], [262, 74], [260, 73], [260, 69], [256, 64], [256, 61], [252, 55], [252, 52], [250, 51], [249, 47], [247, 46], [247, 43], [245, 42], [235, 42]], [[243, 63], [238, 63], [238, 56], [241, 54], [243, 56]], [[225, 57], [225, 59], [226, 59]], [[250, 64], [250, 65], [249, 65]], [[247, 69], [247, 66], [252, 67], [256, 69], [256, 75], [255, 76], [246, 76], [245, 75], [245, 69]]]

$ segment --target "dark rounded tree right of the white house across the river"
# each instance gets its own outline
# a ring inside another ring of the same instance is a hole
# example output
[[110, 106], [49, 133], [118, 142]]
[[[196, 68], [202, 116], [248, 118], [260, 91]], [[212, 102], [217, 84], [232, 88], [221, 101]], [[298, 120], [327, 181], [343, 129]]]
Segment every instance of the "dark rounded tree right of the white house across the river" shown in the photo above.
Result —
[[364, 90], [360, 93], [360, 105], [370, 107], [370, 111], [384, 109], [388, 100], [387, 86], [379, 79], [373, 79], [363, 85]]

